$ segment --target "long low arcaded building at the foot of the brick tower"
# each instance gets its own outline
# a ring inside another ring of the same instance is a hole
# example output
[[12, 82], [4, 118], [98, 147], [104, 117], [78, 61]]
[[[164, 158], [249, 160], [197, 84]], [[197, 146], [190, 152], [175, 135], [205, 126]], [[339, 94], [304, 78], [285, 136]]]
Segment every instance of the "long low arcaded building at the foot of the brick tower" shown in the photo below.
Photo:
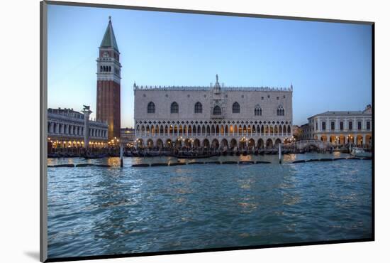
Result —
[[[88, 127], [88, 134], [86, 128]], [[86, 136], [89, 135], [89, 136]], [[85, 118], [73, 109], [48, 109], [48, 143], [53, 148], [103, 147], [107, 145], [108, 125]]]

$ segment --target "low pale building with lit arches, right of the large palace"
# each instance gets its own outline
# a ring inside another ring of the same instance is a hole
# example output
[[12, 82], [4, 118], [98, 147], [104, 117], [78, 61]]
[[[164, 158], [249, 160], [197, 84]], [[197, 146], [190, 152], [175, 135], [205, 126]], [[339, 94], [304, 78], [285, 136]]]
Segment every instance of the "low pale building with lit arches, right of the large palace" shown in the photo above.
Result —
[[363, 111], [323, 112], [308, 118], [303, 138], [331, 144], [372, 145], [372, 108]]

